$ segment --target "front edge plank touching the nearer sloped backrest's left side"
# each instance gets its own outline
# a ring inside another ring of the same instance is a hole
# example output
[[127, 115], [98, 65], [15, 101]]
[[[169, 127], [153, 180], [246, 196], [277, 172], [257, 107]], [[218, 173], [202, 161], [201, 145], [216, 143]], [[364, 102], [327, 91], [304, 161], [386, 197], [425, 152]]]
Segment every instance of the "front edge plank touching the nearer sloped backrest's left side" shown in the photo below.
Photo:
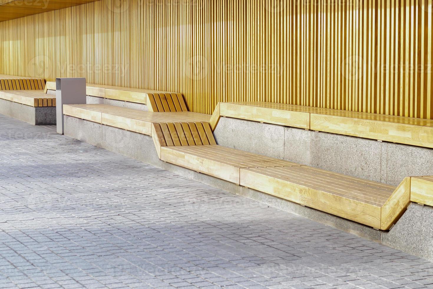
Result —
[[113, 114], [102, 113], [101, 123], [111, 126], [118, 127], [123, 130], [129, 130], [136, 133], [142, 133], [150, 136], [152, 133], [152, 123], [142, 120], [136, 120], [129, 117], [121, 117]]

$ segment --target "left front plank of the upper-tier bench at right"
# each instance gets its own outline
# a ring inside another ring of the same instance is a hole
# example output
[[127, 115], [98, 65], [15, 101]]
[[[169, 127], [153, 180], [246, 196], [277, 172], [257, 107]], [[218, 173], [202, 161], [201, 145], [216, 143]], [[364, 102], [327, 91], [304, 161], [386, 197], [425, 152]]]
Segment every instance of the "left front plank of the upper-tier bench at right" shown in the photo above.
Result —
[[[242, 104], [220, 103], [220, 116], [310, 129], [310, 114]], [[213, 123], [211, 123], [212, 127]]]

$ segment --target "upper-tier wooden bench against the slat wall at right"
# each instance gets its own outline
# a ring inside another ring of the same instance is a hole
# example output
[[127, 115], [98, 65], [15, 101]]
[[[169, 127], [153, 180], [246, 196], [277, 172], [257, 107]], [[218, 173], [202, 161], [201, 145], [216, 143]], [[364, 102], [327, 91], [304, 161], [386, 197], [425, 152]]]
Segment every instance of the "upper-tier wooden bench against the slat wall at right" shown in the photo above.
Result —
[[210, 121], [213, 130], [221, 116], [433, 148], [433, 120], [291, 104], [233, 102], [217, 106]]

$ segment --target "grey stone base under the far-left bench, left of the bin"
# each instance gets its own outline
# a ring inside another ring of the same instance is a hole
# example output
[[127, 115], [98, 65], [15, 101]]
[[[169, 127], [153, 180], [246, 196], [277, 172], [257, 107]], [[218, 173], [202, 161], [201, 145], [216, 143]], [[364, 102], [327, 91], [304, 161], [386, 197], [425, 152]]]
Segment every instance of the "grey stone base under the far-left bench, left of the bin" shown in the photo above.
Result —
[[55, 107], [31, 107], [25, 104], [0, 99], [0, 114], [33, 125], [56, 124]]

